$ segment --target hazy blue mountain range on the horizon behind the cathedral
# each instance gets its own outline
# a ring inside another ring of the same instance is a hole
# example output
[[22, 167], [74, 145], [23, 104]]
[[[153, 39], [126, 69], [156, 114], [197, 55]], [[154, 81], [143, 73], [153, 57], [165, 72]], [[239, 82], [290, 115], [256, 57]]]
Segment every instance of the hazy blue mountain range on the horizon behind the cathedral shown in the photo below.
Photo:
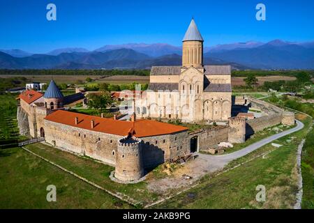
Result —
[[[63, 48], [47, 54], [0, 49], [0, 68], [143, 69], [179, 66], [180, 54], [181, 47], [165, 43], [105, 45], [94, 51], [79, 47]], [[314, 69], [314, 42], [249, 41], [204, 47], [204, 64], [231, 64], [234, 69]]]

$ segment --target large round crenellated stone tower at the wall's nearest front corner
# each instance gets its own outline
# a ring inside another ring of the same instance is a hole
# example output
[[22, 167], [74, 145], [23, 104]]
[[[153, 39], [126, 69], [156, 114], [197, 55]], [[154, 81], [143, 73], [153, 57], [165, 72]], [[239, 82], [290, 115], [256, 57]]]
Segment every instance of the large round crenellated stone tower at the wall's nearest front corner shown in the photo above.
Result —
[[133, 181], [140, 179], [142, 176], [144, 176], [142, 140], [135, 137], [120, 139], [114, 177], [118, 180]]

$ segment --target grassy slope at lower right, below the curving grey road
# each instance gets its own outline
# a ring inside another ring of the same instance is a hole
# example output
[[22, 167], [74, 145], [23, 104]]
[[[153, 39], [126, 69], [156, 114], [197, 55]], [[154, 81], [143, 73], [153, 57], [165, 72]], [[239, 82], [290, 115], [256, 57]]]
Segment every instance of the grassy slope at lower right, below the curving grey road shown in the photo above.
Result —
[[[230, 162], [228, 167], [271, 151], [264, 158], [257, 157], [214, 178], [204, 177], [200, 185], [153, 208], [293, 208], [294, 194], [297, 193], [297, 146], [306, 135], [310, 118], [304, 123], [306, 127], [303, 130], [274, 141], [282, 144], [281, 148], [275, 149], [267, 144]], [[290, 141], [291, 136], [296, 138]], [[255, 201], [257, 185], [266, 187], [264, 203]]]

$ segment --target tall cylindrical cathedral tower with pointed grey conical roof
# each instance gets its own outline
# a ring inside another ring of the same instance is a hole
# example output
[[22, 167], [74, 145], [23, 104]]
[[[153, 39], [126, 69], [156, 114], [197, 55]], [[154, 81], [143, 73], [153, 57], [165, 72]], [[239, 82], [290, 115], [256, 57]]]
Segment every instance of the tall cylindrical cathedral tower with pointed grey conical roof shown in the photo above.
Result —
[[188, 26], [188, 30], [182, 42], [182, 66], [202, 68], [204, 40], [193, 18], [190, 21], [190, 25]]

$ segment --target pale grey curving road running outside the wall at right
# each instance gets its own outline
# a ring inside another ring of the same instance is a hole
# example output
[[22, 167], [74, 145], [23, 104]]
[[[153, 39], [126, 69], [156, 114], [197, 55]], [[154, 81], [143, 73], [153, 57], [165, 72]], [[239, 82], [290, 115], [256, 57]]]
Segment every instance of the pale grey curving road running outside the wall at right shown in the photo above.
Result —
[[242, 148], [241, 150], [235, 151], [233, 153], [229, 153], [226, 155], [204, 155], [204, 154], [198, 153], [197, 155], [200, 155], [200, 157], [205, 158], [209, 160], [210, 162], [214, 162], [216, 164], [218, 164], [217, 162], [220, 162], [219, 166], [221, 165], [225, 166], [225, 164], [227, 164], [228, 162], [232, 160], [236, 160], [239, 157], [243, 157], [244, 155], [247, 155], [248, 153], [255, 151], [257, 148], [260, 148], [266, 144], [269, 144], [271, 141], [284, 137], [287, 134], [297, 132], [301, 130], [302, 128], [304, 128], [304, 123], [301, 123], [301, 121], [296, 120], [296, 123], [297, 123], [297, 126], [294, 128], [285, 130], [283, 132], [279, 132], [277, 134], [273, 134], [270, 137], [257, 141], [254, 144], [251, 144], [250, 146], [246, 146], [245, 148]]

